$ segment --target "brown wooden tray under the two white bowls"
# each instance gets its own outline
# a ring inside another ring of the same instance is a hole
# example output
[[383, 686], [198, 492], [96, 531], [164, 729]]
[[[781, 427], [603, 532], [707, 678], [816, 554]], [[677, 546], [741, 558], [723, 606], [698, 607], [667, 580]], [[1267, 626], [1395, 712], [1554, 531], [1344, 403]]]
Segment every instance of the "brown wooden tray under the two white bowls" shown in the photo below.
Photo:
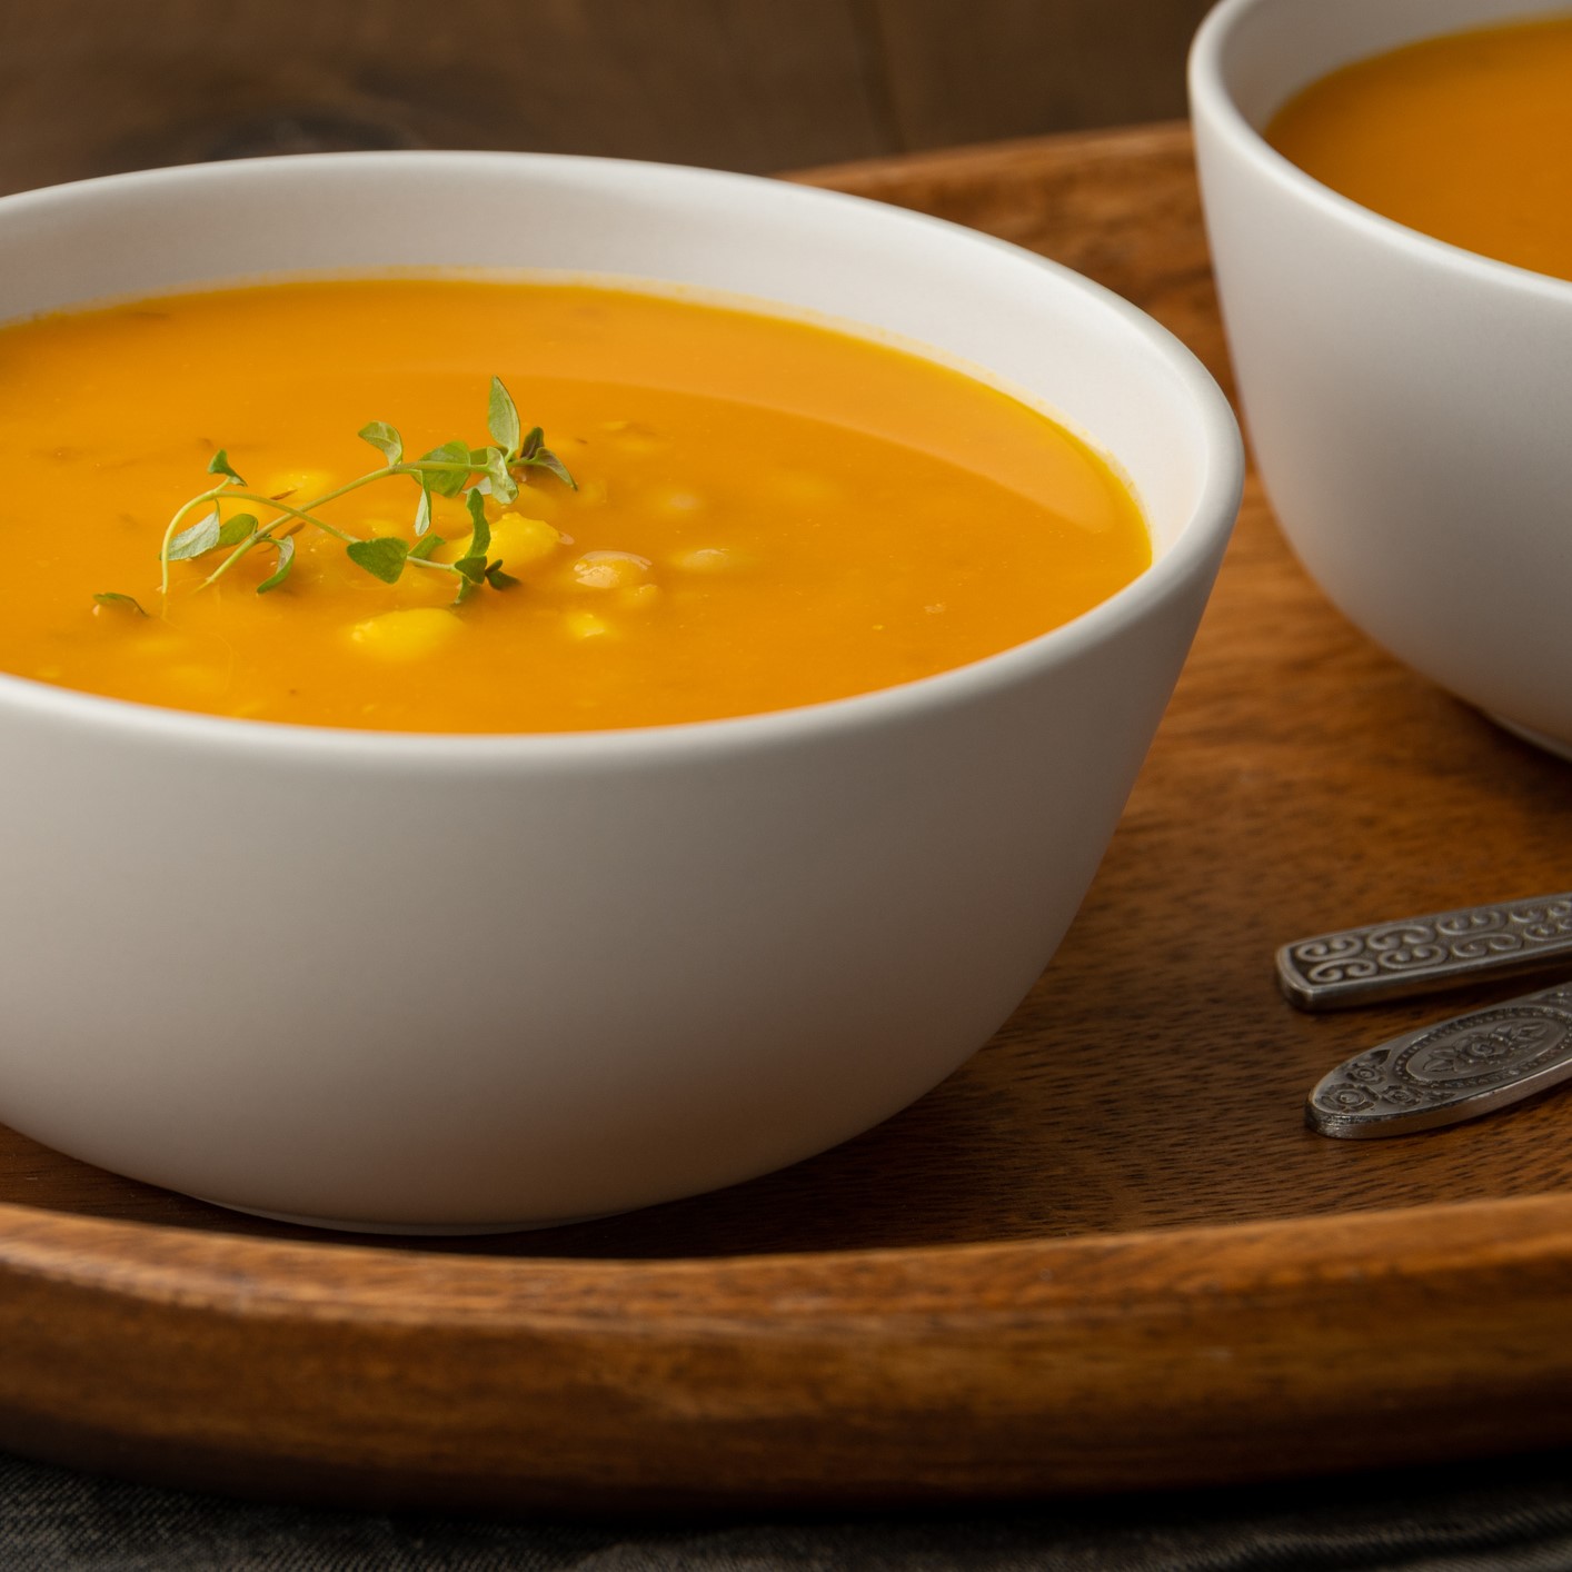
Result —
[[[1058, 256], [1226, 379], [1181, 127], [810, 178]], [[720, 1195], [409, 1248], [0, 1132], [0, 1445], [300, 1500], [604, 1511], [1566, 1442], [1572, 1099], [1309, 1135], [1335, 1061], [1487, 995], [1309, 1019], [1270, 959], [1564, 888], [1569, 854], [1572, 769], [1353, 634], [1251, 484], [1080, 920], [924, 1102]]]

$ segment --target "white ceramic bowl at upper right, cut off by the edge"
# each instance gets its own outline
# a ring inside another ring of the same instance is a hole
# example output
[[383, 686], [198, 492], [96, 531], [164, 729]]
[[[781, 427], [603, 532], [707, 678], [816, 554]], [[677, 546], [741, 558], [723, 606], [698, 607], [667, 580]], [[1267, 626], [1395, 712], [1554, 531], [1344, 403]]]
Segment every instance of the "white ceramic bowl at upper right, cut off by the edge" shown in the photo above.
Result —
[[1295, 91], [1566, 0], [1223, 0], [1190, 55], [1251, 442], [1300, 560], [1366, 634], [1572, 756], [1572, 283], [1328, 190], [1261, 138]]

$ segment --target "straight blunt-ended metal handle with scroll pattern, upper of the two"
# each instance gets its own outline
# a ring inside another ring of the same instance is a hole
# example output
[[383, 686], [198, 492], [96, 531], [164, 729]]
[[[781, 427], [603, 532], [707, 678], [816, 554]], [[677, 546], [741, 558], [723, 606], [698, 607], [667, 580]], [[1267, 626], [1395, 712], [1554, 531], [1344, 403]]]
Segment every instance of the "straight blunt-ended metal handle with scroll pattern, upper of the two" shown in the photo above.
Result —
[[1300, 1009], [1347, 1009], [1405, 994], [1536, 971], [1572, 957], [1572, 893], [1372, 923], [1284, 945], [1278, 982]]

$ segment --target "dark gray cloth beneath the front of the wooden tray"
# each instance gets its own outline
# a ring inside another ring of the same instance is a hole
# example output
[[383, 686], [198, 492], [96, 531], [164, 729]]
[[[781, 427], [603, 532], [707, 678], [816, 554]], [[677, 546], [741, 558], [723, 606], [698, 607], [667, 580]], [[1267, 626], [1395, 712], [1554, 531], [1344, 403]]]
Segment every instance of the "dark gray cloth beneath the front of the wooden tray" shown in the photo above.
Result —
[[1572, 1453], [964, 1512], [545, 1523], [256, 1506], [0, 1457], [0, 1569], [1572, 1572]]

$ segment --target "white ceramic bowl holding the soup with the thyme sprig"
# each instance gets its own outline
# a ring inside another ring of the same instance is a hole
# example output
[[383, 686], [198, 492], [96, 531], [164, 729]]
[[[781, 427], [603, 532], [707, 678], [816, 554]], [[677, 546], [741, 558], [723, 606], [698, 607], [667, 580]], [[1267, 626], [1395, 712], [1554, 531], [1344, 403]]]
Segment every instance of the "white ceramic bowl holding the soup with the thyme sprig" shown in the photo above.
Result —
[[410, 264], [681, 280], [927, 341], [1115, 454], [1157, 561], [976, 665], [648, 731], [335, 733], [0, 678], [0, 1119], [410, 1231], [637, 1207], [855, 1135], [978, 1049], [1069, 924], [1232, 523], [1226, 402], [1063, 269], [742, 176], [351, 154], [0, 201], [3, 319]]

